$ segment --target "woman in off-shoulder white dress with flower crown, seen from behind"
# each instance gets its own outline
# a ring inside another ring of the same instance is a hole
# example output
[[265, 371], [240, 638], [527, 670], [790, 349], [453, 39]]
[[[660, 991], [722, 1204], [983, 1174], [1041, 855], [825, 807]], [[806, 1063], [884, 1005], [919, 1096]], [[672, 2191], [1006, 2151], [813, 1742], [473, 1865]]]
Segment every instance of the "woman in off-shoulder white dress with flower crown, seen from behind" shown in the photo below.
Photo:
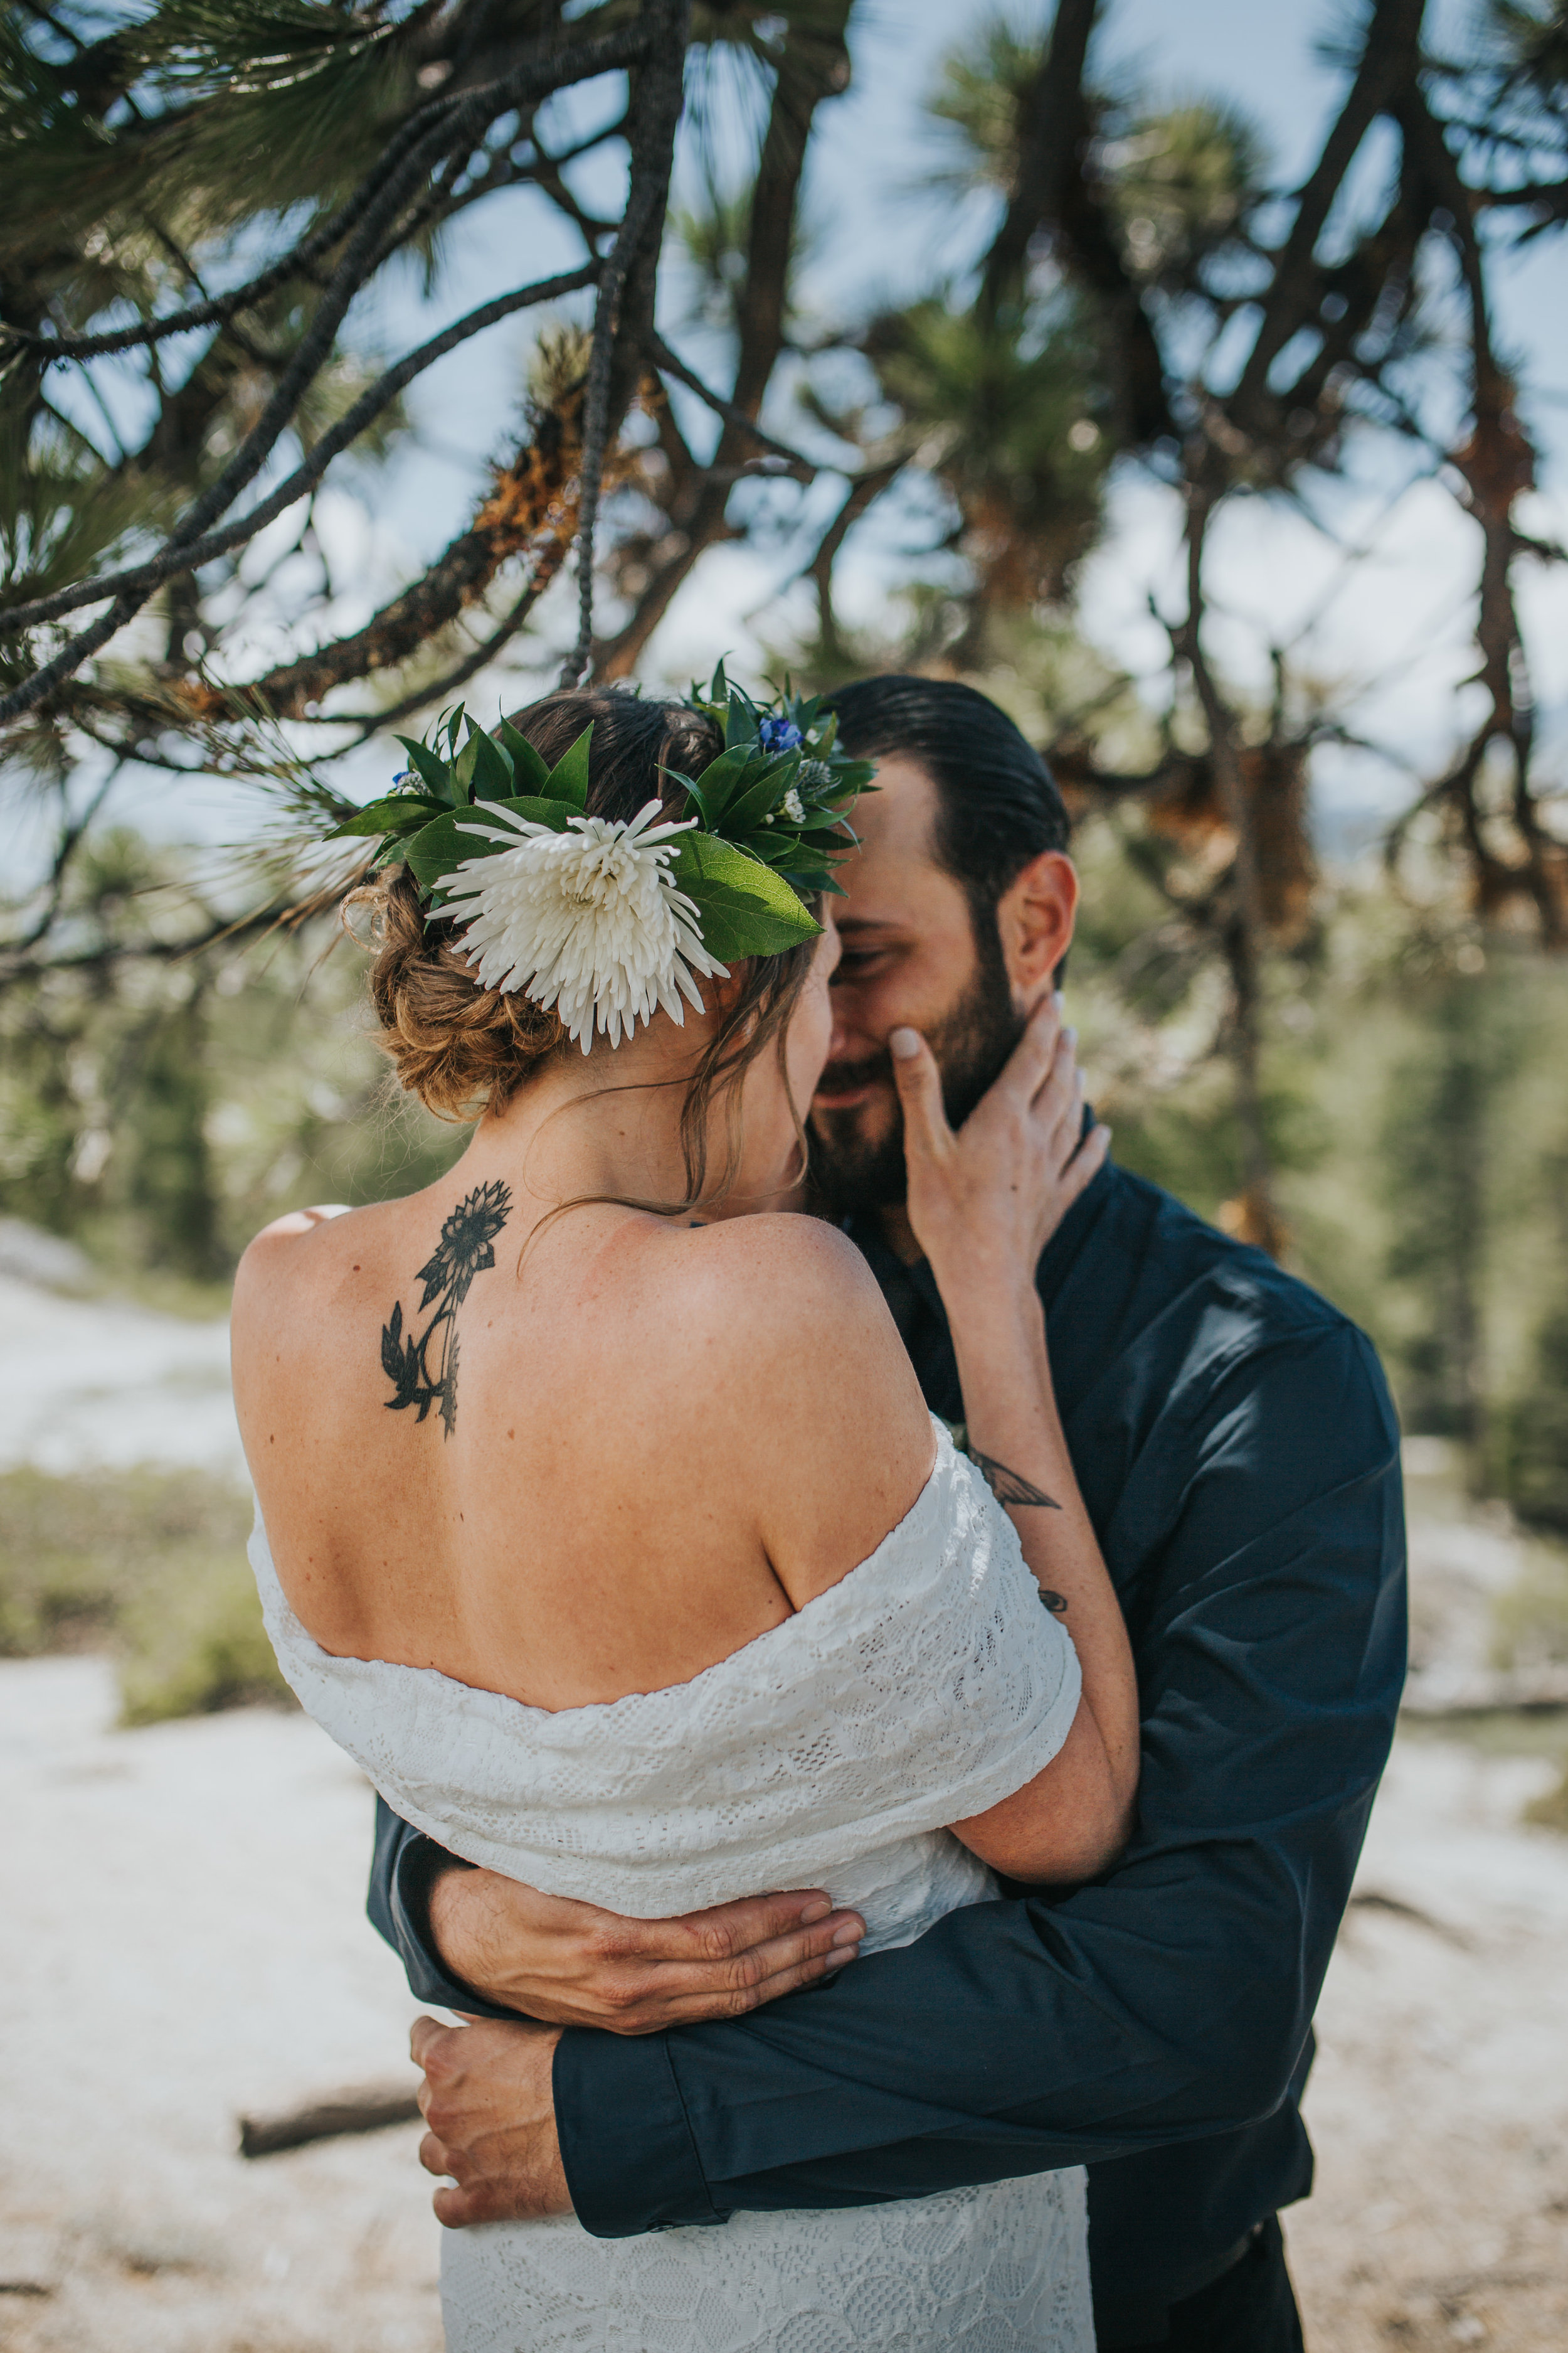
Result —
[[[715, 685], [454, 720], [355, 819], [397, 1078], [480, 1120], [244, 1254], [252, 1562], [306, 1708], [454, 1854], [642, 1918], [820, 1885], [875, 1953], [1126, 1835], [1133, 1668], [1032, 1287], [1100, 1155], [1048, 1000], [987, 1099], [1011, 1181], [910, 1155], [957, 1452], [858, 1252], [785, 1214], [870, 772]], [[1091, 2353], [1084, 2177], [449, 2231], [442, 2308], [451, 2353]]]

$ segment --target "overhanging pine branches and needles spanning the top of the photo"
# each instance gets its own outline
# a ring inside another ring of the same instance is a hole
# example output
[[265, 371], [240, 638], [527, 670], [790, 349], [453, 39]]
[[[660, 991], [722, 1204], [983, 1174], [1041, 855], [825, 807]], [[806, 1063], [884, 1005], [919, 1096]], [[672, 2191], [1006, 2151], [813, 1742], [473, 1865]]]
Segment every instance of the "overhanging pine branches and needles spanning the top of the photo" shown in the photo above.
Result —
[[[980, 191], [973, 249], [900, 306], [830, 320], [802, 292], [804, 200], [849, 82], [849, 0], [2, 7], [0, 720], [54, 793], [59, 838], [0, 979], [75, 955], [61, 878], [92, 821], [78, 772], [94, 748], [99, 779], [108, 760], [273, 774], [320, 831], [348, 805], [322, 736], [353, 751], [456, 692], [538, 626], [574, 541], [569, 678], [630, 675], [708, 551], [795, 532], [818, 600], [809, 671], [990, 680], [1070, 621], [1112, 475], [1138, 468], [1185, 525], [1166, 708], [1135, 748], [1135, 729], [1117, 748], [1098, 687], [1053, 701], [1039, 732], [1077, 807], [1114, 816], [1171, 969], [1225, 976], [1225, 1214], [1281, 1247], [1272, 972], [1319, 955], [1309, 762], [1352, 729], [1288, 649], [1267, 706], [1215, 671], [1215, 518], [1246, 499], [1314, 513], [1373, 445], [1474, 515], [1481, 711], [1389, 856], [1401, 878], [1446, 856], [1486, 922], [1561, 944], [1568, 847], [1514, 602], [1519, 565], [1561, 551], [1519, 522], [1535, 454], [1488, 275], [1568, 221], [1563, 0], [1486, 0], [1453, 49], [1425, 0], [1368, 0], [1335, 33], [1340, 101], [1295, 188], [1227, 99], [1112, 87], [1103, 19], [1114, 0], [1060, 0], [1034, 28], [997, 19], [959, 42], [931, 96], [933, 169]], [[550, 111], [595, 82], [604, 113]], [[738, 172], [715, 139], [726, 104], [755, 115]], [[703, 193], [668, 219], [682, 106]], [[576, 167], [611, 155], [625, 198], [599, 214]], [[348, 306], [409, 259], [435, 285], [477, 205], [508, 207], [517, 242], [545, 212], [567, 221], [581, 264], [371, 365], [343, 339]], [[684, 304], [658, 311], [661, 268]], [[567, 311], [442, 553], [364, 626], [247, 666], [270, 576], [259, 532], [294, 515], [310, 553], [327, 468], [388, 447], [440, 355], [541, 304]], [[686, 334], [705, 374], [672, 348]], [[907, 631], [867, 645], [837, 614], [835, 567], [875, 506], [907, 525], [912, 595]], [[280, 904], [308, 911], [334, 880], [317, 871], [301, 896], [280, 871]], [[205, 936], [228, 920], [214, 911]]]

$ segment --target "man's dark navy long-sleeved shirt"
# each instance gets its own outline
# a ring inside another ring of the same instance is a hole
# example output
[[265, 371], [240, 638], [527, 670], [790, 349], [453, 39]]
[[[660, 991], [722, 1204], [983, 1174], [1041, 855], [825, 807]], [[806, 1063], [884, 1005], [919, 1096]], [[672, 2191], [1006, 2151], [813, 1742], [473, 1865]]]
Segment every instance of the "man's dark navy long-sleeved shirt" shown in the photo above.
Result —
[[[929, 1268], [849, 1231], [959, 1421]], [[1128, 1849], [745, 2019], [571, 2028], [555, 2104], [576, 2212], [609, 2238], [1086, 2162], [1095, 2311], [1135, 2337], [1312, 2186], [1312, 2009], [1406, 1664], [1399, 1428], [1354, 1325], [1124, 1169], [1072, 1207], [1039, 1294], [1138, 1661]], [[437, 1864], [381, 1807], [371, 1920], [421, 1998], [487, 2009], [430, 1948]]]

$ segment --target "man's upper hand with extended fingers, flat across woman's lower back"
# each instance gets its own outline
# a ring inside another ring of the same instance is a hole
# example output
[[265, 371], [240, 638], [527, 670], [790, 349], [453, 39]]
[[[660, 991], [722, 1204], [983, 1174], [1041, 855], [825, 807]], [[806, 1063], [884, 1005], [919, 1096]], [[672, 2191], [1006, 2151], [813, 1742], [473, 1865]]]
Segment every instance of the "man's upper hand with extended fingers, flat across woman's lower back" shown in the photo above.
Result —
[[543, 1897], [498, 1871], [444, 1871], [430, 1934], [449, 1974], [548, 2026], [654, 2035], [736, 2019], [860, 1951], [865, 1922], [820, 1887], [748, 1897], [679, 1920], [625, 1920]]

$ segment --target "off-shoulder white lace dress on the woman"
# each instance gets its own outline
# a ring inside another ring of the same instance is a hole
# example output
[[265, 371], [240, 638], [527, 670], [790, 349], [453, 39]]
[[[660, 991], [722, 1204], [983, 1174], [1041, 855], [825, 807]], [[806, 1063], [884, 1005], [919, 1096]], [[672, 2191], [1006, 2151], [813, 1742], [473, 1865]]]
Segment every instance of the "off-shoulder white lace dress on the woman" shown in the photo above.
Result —
[[[1067, 1739], [1079, 1664], [1018, 1537], [938, 1424], [936, 1468], [870, 1560], [691, 1682], [529, 1708], [435, 1668], [268, 1633], [315, 1720], [404, 1821], [550, 1894], [654, 1920], [827, 1887], [863, 1951], [994, 1894], [943, 1824]], [[832, 2000], [832, 1993], [813, 1995]], [[571, 2217], [442, 2240], [449, 2353], [1093, 2353], [1081, 2169], [830, 2212], [590, 2238]]]

